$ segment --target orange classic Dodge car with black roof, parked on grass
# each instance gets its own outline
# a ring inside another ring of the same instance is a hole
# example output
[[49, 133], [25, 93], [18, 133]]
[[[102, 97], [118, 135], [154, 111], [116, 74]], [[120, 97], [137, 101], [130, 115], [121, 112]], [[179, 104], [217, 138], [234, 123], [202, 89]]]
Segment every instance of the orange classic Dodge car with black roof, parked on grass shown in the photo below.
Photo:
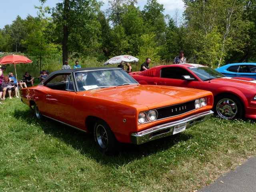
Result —
[[105, 154], [117, 154], [120, 142], [143, 144], [182, 132], [213, 114], [209, 91], [140, 85], [113, 67], [55, 71], [20, 95], [38, 119], [92, 133]]

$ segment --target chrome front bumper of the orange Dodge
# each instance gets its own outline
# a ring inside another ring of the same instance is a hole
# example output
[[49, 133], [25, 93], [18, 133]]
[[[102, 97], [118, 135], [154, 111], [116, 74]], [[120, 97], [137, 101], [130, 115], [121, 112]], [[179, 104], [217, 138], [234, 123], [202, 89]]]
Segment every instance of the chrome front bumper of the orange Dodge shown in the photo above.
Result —
[[175, 126], [179, 126], [186, 123], [186, 129], [200, 122], [208, 120], [212, 116], [213, 112], [207, 111], [200, 114], [192, 115], [184, 119], [180, 119], [174, 122], [162, 124], [156, 127], [149, 128], [131, 135], [133, 144], [143, 144], [152, 140], [170, 136], [173, 134]]

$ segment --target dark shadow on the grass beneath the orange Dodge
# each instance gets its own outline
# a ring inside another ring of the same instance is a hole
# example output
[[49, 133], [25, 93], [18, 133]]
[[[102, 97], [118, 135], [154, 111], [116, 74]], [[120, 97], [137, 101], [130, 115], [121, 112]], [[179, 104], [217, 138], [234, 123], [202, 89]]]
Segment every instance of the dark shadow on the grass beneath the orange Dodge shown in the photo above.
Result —
[[85, 132], [76, 130], [75, 128], [66, 126], [49, 118], [38, 120], [34, 116], [34, 112], [29, 109], [26, 111], [15, 109], [14, 117], [22, 118], [29, 124], [37, 124], [42, 128], [45, 134], [50, 134], [55, 138], [59, 138], [67, 145], [78, 150], [81, 154], [110, 166], [128, 164], [133, 160], [138, 160], [145, 156], [168, 150], [172, 148], [174, 144], [187, 141], [193, 137], [190, 134], [179, 133], [141, 145], [122, 143], [122, 150], [118, 156], [106, 156], [98, 150], [91, 134], [86, 134]]

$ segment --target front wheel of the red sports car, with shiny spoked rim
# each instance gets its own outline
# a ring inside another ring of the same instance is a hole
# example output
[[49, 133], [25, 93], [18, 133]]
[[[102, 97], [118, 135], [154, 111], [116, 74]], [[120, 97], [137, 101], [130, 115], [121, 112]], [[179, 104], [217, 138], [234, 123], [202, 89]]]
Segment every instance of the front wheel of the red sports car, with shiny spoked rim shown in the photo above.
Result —
[[240, 119], [244, 117], [244, 106], [240, 99], [234, 95], [221, 95], [214, 99], [214, 112], [220, 118], [226, 120]]

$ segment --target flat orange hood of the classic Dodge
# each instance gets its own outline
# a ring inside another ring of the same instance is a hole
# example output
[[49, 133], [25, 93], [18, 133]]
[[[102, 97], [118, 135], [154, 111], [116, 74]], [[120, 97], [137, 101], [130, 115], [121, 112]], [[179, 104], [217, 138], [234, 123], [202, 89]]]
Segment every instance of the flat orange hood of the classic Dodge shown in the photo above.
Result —
[[205, 94], [211, 94], [211, 92], [170, 86], [129, 85], [91, 90], [84, 95], [129, 105], [146, 105], [148, 108], [156, 108], [190, 101]]

